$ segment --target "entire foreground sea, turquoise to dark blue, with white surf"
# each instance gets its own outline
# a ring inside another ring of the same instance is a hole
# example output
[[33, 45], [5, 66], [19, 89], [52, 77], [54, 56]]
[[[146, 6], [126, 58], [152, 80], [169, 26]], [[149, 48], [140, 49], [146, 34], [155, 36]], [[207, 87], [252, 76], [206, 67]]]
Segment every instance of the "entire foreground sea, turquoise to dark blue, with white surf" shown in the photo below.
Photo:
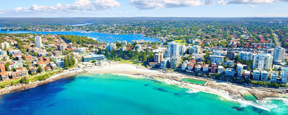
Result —
[[[281, 99], [245, 101], [245, 104], [242, 104], [219, 95], [179, 87], [176, 83], [167, 83], [153, 78], [79, 74], [39, 87], [1, 95], [0, 113], [1, 115], [288, 114], [287, 104]], [[269, 108], [269, 111], [247, 103], [262, 105]]]

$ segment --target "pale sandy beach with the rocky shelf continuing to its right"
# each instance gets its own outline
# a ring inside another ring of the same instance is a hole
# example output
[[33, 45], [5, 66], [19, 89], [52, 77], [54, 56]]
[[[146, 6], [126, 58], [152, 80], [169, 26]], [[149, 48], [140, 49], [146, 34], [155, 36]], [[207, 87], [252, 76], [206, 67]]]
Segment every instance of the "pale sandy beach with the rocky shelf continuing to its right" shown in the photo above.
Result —
[[[204, 91], [207, 93], [214, 93], [217, 95], [221, 95], [223, 93], [229, 93], [230, 98], [238, 99], [243, 98], [242, 95], [238, 92], [240, 89], [245, 89], [255, 95], [259, 100], [262, 100], [266, 97], [278, 97], [278, 94], [283, 92], [279, 92], [276, 90], [270, 89], [255, 89], [255, 88], [247, 88], [238, 85], [233, 85], [231, 83], [226, 83], [224, 81], [205, 79], [193, 76], [186, 76], [179, 73], [164, 73], [158, 70], [149, 70], [144, 68], [137, 68], [136, 65], [131, 64], [113, 64], [109, 66], [96, 67], [87, 69], [88, 73], [118, 73], [118, 74], [127, 74], [127, 75], [140, 75], [140, 76], [148, 76], [148, 77], [156, 77], [162, 78], [166, 80], [168, 83], [176, 83], [179, 85], [184, 85], [186, 87]], [[193, 78], [198, 80], [208, 81], [206, 86], [193, 85], [188, 83], [181, 83], [180, 80], [182, 78]], [[244, 99], [244, 98], [243, 98]]]

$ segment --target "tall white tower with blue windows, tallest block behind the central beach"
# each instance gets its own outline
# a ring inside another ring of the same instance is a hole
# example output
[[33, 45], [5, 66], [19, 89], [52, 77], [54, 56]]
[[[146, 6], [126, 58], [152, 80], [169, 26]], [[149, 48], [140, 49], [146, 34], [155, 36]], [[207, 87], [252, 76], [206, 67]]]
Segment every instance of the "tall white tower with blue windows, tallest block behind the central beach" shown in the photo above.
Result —
[[167, 55], [169, 57], [178, 57], [180, 55], [179, 48], [179, 43], [175, 41], [169, 42], [167, 45]]

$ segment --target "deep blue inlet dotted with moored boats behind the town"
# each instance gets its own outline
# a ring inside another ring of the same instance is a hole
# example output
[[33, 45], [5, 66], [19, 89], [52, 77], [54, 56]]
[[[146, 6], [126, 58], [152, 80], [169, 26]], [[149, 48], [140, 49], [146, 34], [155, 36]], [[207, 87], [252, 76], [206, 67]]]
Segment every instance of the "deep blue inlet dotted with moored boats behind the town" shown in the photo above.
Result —
[[[107, 34], [107, 33], [98, 33], [98, 32], [89, 32], [83, 33], [80, 31], [58, 31], [58, 32], [32, 32], [32, 31], [1, 31], [0, 33], [8, 33], [8, 34], [19, 34], [19, 33], [36, 33], [36, 34], [63, 34], [63, 35], [77, 35], [77, 36], [87, 36], [88, 38], [93, 38], [95, 40], [107, 40], [108, 42], [115, 41], [127, 41], [131, 43], [131, 40], [148, 40], [151, 42], [158, 41], [158, 38], [152, 37], [144, 37], [142, 34]], [[101, 41], [101, 42], [107, 42]], [[160, 42], [160, 41], [158, 41]]]

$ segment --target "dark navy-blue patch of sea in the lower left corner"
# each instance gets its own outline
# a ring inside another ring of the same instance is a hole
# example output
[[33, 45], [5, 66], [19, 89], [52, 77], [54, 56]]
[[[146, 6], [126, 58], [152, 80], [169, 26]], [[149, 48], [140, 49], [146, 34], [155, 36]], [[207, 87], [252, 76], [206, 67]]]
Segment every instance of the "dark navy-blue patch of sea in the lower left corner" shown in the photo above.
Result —
[[1, 115], [13, 115], [15, 113], [30, 115], [39, 108], [53, 106], [49, 102], [53, 101], [57, 93], [65, 90], [65, 86], [74, 80], [75, 77], [63, 78], [35, 88], [1, 95], [0, 113]]

